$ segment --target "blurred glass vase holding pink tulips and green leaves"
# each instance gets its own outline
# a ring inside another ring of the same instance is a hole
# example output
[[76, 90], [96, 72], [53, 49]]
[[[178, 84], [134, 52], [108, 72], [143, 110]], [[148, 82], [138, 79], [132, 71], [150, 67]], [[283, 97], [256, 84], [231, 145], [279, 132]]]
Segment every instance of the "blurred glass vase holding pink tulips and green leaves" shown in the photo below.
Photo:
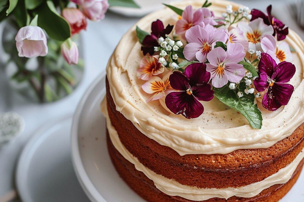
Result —
[[40, 102], [70, 94], [84, 64], [77, 34], [87, 20], [103, 19], [109, 6], [138, 8], [133, 0], [0, 0], [0, 21], [8, 21], [5, 67], [15, 86]]

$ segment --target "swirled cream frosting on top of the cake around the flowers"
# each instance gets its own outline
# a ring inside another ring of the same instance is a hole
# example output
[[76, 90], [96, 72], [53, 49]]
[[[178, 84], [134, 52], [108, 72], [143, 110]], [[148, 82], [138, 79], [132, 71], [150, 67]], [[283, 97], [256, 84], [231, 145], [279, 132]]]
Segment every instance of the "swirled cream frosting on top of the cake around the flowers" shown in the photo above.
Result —
[[[192, 5], [201, 7], [203, 1], [183, 1], [174, 6], [185, 8]], [[222, 0], [212, 1], [212, 10], [219, 16], [226, 5], [237, 9], [240, 5]], [[166, 8], [142, 18], [136, 25], [148, 31], [151, 22], [160, 19], [164, 25], [175, 24], [174, 12]], [[295, 76], [289, 82], [295, 87], [288, 105], [275, 112], [265, 110], [260, 103], [263, 126], [253, 129], [242, 114], [227, 107], [217, 98], [202, 102], [205, 111], [196, 119], [186, 119], [166, 111], [159, 101], [147, 103], [150, 96], [137, 78], [139, 62], [143, 57], [134, 25], [121, 39], [107, 66], [110, 93], [121, 112], [147, 137], [161, 145], [171, 147], [180, 155], [185, 154], [227, 154], [238, 149], [268, 148], [292, 134], [303, 123], [303, 47], [302, 39], [292, 30], [285, 39], [295, 49], [293, 64]]]

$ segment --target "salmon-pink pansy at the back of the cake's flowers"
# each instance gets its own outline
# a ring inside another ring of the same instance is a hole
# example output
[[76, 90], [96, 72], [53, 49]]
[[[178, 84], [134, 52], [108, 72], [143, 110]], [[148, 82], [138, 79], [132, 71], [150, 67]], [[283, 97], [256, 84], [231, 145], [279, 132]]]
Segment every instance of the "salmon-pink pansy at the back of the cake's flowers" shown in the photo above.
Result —
[[183, 11], [181, 19], [176, 22], [176, 34], [182, 35], [185, 39], [185, 32], [191, 27], [198, 25], [200, 22], [204, 22], [206, 25], [217, 25], [217, 22], [213, 20], [212, 13], [208, 8], [199, 8], [195, 11], [191, 5], [188, 5]]

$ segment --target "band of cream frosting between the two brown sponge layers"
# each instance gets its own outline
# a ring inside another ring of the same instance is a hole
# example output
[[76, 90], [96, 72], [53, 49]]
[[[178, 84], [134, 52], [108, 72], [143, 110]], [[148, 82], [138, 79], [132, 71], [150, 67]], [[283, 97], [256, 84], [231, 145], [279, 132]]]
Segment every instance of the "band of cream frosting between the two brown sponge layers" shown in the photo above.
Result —
[[112, 126], [111, 121], [109, 119], [108, 112], [106, 110], [106, 101], [103, 101], [102, 111], [107, 119], [107, 128], [109, 131], [110, 139], [120, 154], [123, 155], [125, 159], [134, 164], [135, 168], [138, 171], [143, 172], [150, 180], [152, 180], [157, 187], [157, 189], [161, 190], [163, 193], [170, 196], [180, 196], [185, 199], [201, 201], [207, 200], [209, 198], [218, 197], [218, 198], [229, 198], [232, 196], [237, 197], [254, 197], [259, 194], [262, 190], [271, 187], [274, 184], [284, 184], [292, 177], [295, 169], [301, 162], [304, 157], [304, 148], [298, 154], [292, 163], [288, 164], [286, 167], [281, 168], [277, 173], [272, 174], [271, 176], [265, 178], [260, 182], [256, 182], [253, 184], [246, 185], [244, 187], [229, 187], [229, 188], [197, 188], [191, 187], [188, 185], [182, 185], [174, 179], [165, 178], [162, 175], [156, 174], [154, 171], [151, 171], [149, 168], [145, 167], [141, 164], [136, 157], [134, 157], [121, 143], [117, 131]]

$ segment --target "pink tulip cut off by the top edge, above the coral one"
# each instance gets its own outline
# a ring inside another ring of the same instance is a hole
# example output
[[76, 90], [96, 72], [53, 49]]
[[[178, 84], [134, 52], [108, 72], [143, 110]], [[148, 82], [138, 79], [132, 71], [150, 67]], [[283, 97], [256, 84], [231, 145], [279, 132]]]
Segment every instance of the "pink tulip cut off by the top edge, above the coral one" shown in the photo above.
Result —
[[105, 18], [105, 13], [109, 8], [108, 0], [72, 0], [80, 6], [84, 14], [93, 21]]

